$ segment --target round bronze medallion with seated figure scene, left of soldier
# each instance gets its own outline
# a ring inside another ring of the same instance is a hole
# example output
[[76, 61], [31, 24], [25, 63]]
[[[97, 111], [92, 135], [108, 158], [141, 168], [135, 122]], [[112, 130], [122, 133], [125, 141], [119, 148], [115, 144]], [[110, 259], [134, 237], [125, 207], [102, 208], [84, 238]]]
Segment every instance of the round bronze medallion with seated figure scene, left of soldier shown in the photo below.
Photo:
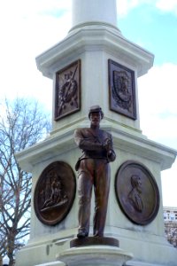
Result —
[[35, 214], [45, 224], [60, 223], [69, 213], [75, 197], [73, 169], [63, 161], [52, 162], [42, 171], [35, 186]]

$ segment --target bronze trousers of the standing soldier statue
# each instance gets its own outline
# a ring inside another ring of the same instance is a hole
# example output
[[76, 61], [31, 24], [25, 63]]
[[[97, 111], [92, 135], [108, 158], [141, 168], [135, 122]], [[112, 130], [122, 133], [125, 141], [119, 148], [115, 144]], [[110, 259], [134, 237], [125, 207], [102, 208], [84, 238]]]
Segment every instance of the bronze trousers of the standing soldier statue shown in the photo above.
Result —
[[94, 236], [104, 235], [104, 225], [107, 213], [110, 191], [110, 166], [107, 160], [81, 160], [79, 168], [79, 231], [89, 234], [89, 218], [92, 188], [95, 192], [95, 214], [93, 221]]

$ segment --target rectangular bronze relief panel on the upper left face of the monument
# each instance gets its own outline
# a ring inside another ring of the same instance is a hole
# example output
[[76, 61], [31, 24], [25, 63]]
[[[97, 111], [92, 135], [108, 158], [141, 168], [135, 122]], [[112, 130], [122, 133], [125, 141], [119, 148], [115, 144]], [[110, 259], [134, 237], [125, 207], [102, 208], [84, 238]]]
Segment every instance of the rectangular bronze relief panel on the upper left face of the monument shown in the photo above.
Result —
[[81, 60], [56, 74], [55, 120], [81, 109]]

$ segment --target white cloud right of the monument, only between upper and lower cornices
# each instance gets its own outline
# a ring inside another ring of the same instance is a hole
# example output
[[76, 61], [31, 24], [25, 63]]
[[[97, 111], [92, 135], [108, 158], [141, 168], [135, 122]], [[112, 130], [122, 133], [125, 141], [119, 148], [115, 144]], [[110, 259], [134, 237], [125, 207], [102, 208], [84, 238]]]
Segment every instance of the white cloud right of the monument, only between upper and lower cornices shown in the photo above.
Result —
[[175, 139], [177, 148], [176, 73], [177, 65], [154, 66], [138, 83], [142, 131], [155, 140]]

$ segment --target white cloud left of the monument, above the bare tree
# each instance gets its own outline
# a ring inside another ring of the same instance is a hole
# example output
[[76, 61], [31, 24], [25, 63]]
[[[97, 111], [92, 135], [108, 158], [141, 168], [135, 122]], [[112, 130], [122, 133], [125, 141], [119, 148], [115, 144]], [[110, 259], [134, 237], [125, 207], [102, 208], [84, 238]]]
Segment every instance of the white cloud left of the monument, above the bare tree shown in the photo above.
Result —
[[35, 57], [67, 34], [71, 27], [70, 3], [64, 0], [1, 2], [0, 98], [4, 95], [35, 97], [47, 102], [50, 108], [52, 83], [36, 69]]

